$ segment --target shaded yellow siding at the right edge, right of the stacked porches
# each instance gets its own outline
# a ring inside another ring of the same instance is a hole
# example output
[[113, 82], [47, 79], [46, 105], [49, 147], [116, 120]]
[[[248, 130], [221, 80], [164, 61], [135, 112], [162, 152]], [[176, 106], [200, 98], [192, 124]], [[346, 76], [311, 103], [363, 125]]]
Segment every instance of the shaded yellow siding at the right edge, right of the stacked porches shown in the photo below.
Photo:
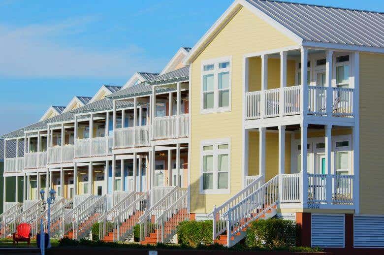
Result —
[[360, 213], [384, 214], [384, 55], [360, 54]]

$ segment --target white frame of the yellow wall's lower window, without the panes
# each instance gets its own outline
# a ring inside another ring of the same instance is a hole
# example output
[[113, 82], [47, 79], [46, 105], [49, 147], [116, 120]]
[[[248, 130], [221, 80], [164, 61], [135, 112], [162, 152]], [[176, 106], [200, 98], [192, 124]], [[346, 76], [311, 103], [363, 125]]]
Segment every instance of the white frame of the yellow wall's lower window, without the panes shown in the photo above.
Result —
[[[218, 150], [218, 146], [222, 144], [228, 144], [228, 149], [222, 149]], [[204, 151], [204, 146], [207, 145], [213, 145], [212, 151]], [[217, 188], [217, 182], [218, 182], [218, 173], [217, 170], [217, 159], [218, 155], [220, 154], [228, 154], [228, 188], [227, 189], [218, 189]], [[203, 157], [206, 155], [213, 155], [213, 184], [212, 184], [212, 190], [203, 190]], [[200, 194], [229, 194], [230, 193], [230, 178], [231, 176], [231, 140], [230, 138], [221, 138], [221, 139], [214, 139], [214, 140], [204, 140], [201, 141], [200, 144]]]

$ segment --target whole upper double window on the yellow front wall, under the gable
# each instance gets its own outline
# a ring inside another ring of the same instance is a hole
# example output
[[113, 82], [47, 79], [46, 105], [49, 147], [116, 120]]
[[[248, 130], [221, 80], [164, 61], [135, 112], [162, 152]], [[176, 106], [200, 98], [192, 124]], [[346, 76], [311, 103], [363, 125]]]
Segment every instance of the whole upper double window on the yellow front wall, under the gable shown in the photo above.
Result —
[[230, 110], [230, 68], [229, 58], [203, 64], [201, 95], [203, 113]]

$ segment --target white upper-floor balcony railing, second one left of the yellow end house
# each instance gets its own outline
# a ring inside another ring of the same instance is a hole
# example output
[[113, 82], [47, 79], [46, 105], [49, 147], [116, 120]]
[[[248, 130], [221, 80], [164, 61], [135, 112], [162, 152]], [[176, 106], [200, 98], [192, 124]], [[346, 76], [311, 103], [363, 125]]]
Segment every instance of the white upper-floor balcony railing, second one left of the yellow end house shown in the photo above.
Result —
[[114, 132], [115, 148], [148, 146], [150, 126], [117, 128]]

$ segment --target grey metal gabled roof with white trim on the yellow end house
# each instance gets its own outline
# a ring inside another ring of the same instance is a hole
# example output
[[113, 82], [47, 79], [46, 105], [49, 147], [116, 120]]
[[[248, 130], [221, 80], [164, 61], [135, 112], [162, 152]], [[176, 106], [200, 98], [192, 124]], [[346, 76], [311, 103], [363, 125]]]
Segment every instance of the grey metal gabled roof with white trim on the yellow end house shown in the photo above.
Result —
[[193, 46], [190, 64], [245, 7], [297, 42], [312, 46], [384, 53], [384, 13], [273, 0], [235, 0]]

